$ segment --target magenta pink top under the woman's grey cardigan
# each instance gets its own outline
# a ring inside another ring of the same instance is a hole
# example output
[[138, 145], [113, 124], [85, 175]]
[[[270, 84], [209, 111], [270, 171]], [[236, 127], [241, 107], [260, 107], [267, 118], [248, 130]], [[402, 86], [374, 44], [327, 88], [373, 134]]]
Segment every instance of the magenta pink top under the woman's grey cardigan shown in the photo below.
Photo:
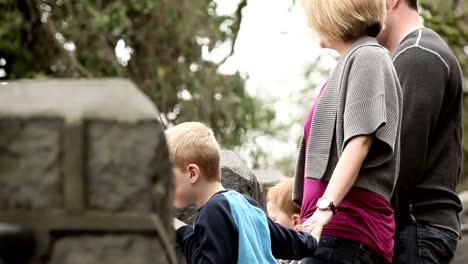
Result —
[[[315, 107], [325, 86], [326, 83], [312, 104], [304, 124], [306, 144], [309, 144]], [[317, 200], [322, 197], [327, 186], [328, 182], [307, 178], [306, 175], [301, 207], [302, 222], [305, 222], [315, 212]], [[364, 243], [389, 263], [392, 262], [395, 221], [388, 200], [366, 189], [352, 187], [337, 206], [337, 210], [330, 223], [324, 227], [322, 234]]]

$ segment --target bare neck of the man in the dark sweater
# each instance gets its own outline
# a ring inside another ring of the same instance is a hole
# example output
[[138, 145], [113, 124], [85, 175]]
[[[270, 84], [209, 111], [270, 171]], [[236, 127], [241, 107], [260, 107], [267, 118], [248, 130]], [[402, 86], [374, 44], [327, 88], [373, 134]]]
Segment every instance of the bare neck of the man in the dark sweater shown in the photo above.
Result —
[[415, 10], [405, 9], [402, 11], [398, 20], [394, 21], [394, 24], [391, 25], [391, 32], [387, 40], [388, 43], [385, 46], [391, 52], [395, 52], [408, 34], [423, 27], [424, 24], [419, 14]]

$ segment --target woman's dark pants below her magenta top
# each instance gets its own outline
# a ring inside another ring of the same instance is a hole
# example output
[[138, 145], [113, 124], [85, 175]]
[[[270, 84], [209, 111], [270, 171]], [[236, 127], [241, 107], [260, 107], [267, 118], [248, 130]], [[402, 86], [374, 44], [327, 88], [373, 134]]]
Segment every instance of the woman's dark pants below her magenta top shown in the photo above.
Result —
[[301, 264], [325, 263], [380, 264], [388, 262], [382, 256], [377, 255], [366, 244], [354, 240], [322, 235], [315, 255], [303, 259]]

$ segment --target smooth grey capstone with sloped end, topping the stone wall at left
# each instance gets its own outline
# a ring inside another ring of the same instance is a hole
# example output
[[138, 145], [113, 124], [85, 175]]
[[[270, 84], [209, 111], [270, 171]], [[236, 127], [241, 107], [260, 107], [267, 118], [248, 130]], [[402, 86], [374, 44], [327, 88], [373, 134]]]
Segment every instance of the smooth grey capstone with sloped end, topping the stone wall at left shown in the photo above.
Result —
[[137, 122], [157, 118], [153, 103], [126, 79], [42, 79], [0, 84], [0, 116]]

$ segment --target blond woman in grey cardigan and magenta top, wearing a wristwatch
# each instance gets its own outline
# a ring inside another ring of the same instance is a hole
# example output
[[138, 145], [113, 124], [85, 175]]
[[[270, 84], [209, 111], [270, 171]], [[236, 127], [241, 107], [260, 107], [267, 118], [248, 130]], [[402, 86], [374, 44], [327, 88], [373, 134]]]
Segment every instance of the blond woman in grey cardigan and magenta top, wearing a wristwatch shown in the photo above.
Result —
[[385, 0], [303, 0], [322, 48], [340, 59], [304, 126], [293, 199], [303, 227], [326, 223], [302, 263], [390, 263], [402, 96], [388, 51], [374, 39]]

